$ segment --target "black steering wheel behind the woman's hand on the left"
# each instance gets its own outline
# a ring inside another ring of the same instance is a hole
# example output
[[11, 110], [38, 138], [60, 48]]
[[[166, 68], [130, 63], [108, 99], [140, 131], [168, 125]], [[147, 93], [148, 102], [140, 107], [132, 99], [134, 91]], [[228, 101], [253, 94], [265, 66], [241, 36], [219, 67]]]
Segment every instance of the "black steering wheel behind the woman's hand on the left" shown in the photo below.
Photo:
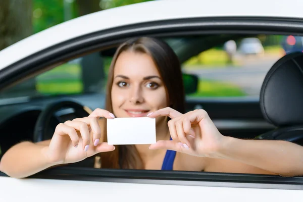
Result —
[[47, 125], [54, 113], [63, 108], [72, 108], [75, 110], [75, 115], [78, 118], [87, 117], [89, 113], [85, 111], [84, 106], [69, 99], [57, 100], [46, 106], [46, 108], [39, 114], [35, 129], [34, 129], [34, 142], [39, 142], [52, 137], [47, 137]]

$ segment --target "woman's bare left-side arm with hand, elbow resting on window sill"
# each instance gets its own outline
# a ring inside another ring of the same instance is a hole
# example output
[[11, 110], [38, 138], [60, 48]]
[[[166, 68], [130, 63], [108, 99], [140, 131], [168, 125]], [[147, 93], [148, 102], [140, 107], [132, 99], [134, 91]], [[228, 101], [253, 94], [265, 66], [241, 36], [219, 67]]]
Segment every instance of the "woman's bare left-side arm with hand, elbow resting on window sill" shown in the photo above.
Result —
[[2, 157], [0, 170], [11, 177], [24, 178], [52, 166], [79, 162], [114, 150], [115, 146], [99, 142], [102, 139], [100, 117], [113, 119], [110, 112], [96, 109], [89, 117], [59, 124], [52, 140], [14, 145]]

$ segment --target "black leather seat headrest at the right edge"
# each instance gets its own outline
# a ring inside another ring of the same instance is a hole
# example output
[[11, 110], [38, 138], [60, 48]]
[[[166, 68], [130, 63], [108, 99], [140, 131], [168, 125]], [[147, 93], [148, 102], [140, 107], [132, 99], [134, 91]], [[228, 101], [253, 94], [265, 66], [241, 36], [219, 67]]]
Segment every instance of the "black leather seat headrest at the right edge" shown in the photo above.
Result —
[[260, 92], [263, 116], [275, 126], [303, 124], [303, 53], [291, 53], [268, 71]]

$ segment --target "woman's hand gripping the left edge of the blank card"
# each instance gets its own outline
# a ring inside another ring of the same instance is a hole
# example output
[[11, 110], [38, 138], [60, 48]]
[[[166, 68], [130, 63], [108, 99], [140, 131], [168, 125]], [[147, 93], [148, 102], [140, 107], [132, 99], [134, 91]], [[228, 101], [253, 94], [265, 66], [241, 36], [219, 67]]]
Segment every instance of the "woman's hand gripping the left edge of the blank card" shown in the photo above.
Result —
[[46, 147], [45, 153], [49, 162], [74, 163], [100, 152], [114, 150], [114, 145], [99, 143], [102, 132], [98, 124], [100, 117], [113, 119], [115, 116], [106, 110], [96, 109], [88, 117], [60, 123]]

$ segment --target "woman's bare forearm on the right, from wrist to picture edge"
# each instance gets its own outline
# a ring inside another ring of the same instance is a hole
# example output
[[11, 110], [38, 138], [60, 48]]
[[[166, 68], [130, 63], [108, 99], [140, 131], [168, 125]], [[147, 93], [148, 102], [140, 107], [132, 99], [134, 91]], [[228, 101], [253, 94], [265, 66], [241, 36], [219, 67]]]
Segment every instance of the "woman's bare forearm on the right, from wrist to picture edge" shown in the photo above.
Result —
[[303, 147], [287, 141], [224, 137], [211, 157], [205, 171], [222, 168], [226, 172], [303, 175]]

